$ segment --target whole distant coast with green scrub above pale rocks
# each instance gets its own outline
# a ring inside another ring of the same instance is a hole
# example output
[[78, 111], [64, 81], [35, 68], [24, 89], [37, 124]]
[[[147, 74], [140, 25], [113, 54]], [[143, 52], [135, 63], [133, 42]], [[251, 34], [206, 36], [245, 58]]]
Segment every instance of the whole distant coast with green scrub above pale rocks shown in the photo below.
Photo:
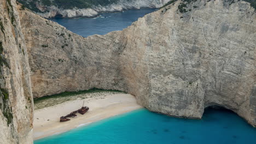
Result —
[[[19, 1], [19, 0], [18, 0]], [[160, 8], [170, 0], [20, 0], [25, 7], [45, 17], [95, 17], [99, 13], [126, 9]]]

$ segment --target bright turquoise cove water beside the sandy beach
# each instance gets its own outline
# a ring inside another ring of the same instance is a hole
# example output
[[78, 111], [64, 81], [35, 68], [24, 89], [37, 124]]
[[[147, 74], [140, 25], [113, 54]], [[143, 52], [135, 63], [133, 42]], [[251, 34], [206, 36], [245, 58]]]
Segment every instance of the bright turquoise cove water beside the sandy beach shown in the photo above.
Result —
[[201, 120], [140, 109], [34, 141], [35, 144], [256, 143], [256, 129], [228, 110], [207, 109]]

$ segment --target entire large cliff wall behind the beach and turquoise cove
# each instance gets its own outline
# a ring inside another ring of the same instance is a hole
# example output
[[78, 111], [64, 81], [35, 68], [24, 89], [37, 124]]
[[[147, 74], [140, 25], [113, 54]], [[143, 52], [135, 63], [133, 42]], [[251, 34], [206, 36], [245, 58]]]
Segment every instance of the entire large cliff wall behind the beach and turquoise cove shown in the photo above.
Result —
[[247, 2], [177, 1], [124, 31], [88, 38], [20, 13], [34, 97], [118, 89], [166, 115], [201, 118], [218, 105], [256, 125], [256, 22]]

